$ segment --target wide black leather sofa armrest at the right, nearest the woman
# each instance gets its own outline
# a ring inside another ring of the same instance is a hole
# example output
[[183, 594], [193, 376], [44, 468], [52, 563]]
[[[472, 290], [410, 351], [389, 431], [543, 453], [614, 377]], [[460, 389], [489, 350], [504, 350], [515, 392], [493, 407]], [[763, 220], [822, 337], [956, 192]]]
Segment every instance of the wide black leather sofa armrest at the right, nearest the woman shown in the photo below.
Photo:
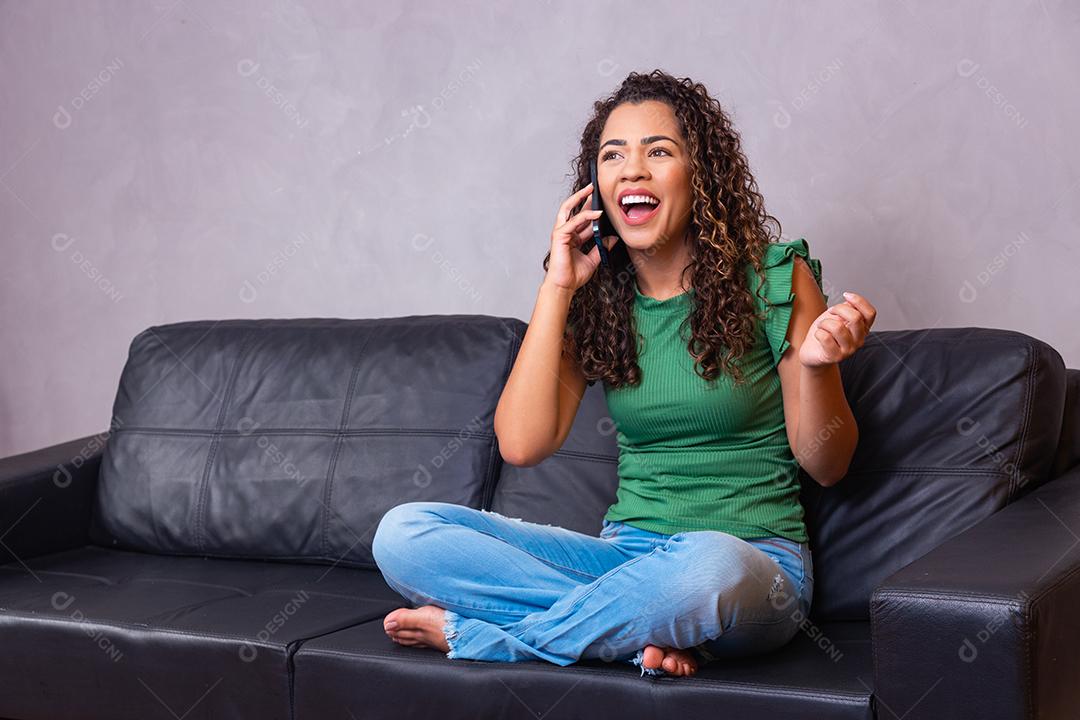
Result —
[[1080, 467], [870, 597], [878, 718], [1064, 718], [1080, 703]]

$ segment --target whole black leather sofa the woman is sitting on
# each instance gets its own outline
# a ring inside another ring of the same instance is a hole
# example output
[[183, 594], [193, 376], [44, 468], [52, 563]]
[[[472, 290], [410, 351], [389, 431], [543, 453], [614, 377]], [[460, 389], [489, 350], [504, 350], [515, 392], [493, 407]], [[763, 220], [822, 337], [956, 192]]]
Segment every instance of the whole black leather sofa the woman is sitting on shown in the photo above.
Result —
[[815, 595], [774, 653], [689, 678], [450, 661], [382, 631], [370, 554], [413, 500], [596, 534], [589, 388], [544, 462], [492, 433], [515, 318], [189, 322], [135, 337], [109, 432], [0, 461], [0, 717], [1075, 718], [1080, 370], [983, 328], [841, 364], [851, 472], [804, 477]]

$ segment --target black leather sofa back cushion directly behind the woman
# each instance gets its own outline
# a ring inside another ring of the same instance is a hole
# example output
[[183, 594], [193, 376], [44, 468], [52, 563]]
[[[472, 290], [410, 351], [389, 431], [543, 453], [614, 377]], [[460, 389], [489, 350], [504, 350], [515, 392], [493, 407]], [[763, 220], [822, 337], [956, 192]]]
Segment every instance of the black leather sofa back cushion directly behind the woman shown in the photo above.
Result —
[[[1049, 478], [1065, 367], [1035, 338], [961, 327], [870, 332], [840, 373], [859, 446], [831, 488], [801, 473], [811, 616], [867, 620], [881, 580]], [[502, 465], [492, 508], [597, 534], [617, 453], [597, 383], [559, 451], [532, 467]]]

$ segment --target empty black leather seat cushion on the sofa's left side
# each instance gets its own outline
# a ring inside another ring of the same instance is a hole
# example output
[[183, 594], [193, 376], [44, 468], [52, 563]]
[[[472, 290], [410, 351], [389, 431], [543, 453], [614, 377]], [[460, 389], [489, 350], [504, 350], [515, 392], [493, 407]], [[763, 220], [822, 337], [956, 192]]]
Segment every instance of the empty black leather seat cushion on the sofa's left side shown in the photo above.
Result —
[[0, 717], [291, 717], [297, 644], [401, 607], [378, 572], [86, 546], [0, 566]]

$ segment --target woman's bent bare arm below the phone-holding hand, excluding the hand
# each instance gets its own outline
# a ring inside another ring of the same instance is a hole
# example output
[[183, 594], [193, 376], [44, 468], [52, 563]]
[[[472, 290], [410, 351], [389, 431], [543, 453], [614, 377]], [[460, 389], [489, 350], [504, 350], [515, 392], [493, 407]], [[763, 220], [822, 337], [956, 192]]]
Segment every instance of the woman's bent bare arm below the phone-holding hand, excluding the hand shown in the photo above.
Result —
[[563, 334], [573, 291], [544, 282], [514, 367], [495, 409], [499, 452], [512, 465], [535, 465], [563, 446], [585, 391], [585, 378]]

